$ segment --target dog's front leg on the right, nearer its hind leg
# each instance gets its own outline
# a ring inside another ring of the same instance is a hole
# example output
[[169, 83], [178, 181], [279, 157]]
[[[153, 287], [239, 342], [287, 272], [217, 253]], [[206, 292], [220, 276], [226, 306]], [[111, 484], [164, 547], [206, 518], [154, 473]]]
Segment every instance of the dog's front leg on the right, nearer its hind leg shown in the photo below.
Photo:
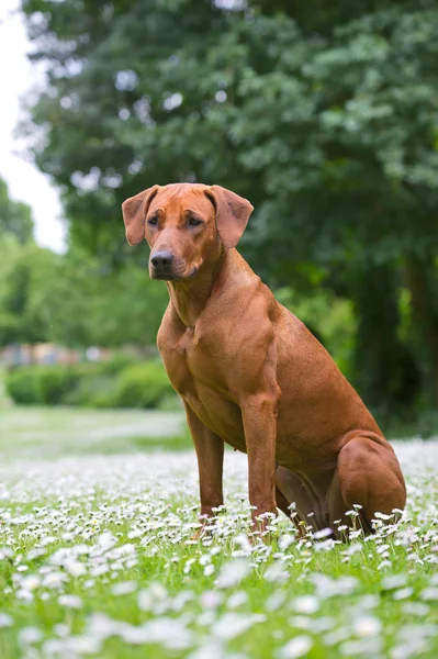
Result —
[[269, 518], [263, 515], [277, 514], [277, 409], [278, 401], [269, 394], [250, 396], [242, 405], [248, 454], [249, 503], [254, 506], [252, 526], [259, 533], [263, 533], [269, 525]]

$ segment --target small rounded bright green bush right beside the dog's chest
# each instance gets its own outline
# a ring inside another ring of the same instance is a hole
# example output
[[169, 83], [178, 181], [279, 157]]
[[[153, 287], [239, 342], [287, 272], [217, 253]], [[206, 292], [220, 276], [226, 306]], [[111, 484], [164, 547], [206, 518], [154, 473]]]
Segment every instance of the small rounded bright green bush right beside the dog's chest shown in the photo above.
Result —
[[175, 390], [159, 361], [130, 366], [121, 372], [115, 392], [117, 407], [157, 407]]

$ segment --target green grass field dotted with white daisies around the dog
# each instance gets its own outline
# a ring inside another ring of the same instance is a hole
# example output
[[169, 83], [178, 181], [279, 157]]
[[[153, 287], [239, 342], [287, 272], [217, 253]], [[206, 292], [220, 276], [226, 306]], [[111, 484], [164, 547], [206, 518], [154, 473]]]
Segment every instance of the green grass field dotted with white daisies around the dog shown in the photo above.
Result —
[[227, 510], [193, 540], [181, 415], [0, 414], [1, 659], [438, 657], [438, 443], [395, 444], [405, 516], [349, 544], [284, 516], [250, 544], [227, 451]]

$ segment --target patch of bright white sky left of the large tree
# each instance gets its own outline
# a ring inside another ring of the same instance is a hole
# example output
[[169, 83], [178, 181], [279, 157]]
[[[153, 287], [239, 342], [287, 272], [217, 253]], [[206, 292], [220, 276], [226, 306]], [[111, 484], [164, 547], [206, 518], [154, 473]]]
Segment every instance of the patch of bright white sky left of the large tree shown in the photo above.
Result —
[[32, 208], [38, 245], [63, 252], [66, 232], [59, 196], [48, 177], [16, 153], [23, 150], [23, 142], [14, 137], [22, 116], [20, 100], [41, 76], [26, 59], [31, 44], [19, 5], [20, 0], [0, 0], [0, 177], [12, 199]]

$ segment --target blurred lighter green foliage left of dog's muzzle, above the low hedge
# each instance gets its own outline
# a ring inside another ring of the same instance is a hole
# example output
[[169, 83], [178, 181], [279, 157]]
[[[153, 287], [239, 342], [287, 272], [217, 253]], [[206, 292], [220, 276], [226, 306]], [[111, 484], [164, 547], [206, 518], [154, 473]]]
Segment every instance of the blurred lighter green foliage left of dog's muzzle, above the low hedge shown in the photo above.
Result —
[[145, 268], [117, 270], [83, 250], [59, 256], [13, 236], [2, 243], [0, 346], [149, 345], [166, 304], [166, 287]]

